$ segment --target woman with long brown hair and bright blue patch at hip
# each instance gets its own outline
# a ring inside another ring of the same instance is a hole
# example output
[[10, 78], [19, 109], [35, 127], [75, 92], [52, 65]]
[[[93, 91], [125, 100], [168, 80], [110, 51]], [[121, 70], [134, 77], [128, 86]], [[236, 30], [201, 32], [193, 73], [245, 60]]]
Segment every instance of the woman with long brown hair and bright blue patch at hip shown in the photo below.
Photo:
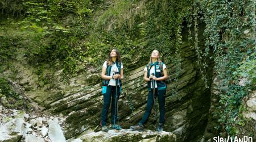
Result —
[[112, 128], [120, 130], [118, 124], [118, 99], [122, 88], [123, 80], [123, 64], [120, 54], [117, 49], [110, 51], [107, 61], [104, 62], [101, 72], [102, 81], [102, 94], [103, 94], [103, 107], [101, 112], [101, 131], [108, 131], [106, 120], [108, 118], [108, 110], [110, 101], [111, 106], [111, 123]]

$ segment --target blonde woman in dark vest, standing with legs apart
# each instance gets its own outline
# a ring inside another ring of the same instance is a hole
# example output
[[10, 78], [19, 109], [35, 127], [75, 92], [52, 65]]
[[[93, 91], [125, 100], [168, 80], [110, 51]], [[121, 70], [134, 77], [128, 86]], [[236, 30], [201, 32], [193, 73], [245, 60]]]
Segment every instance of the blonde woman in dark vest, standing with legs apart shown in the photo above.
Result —
[[[144, 124], [147, 123], [147, 120], [151, 114], [152, 107], [156, 99], [159, 104], [159, 122], [156, 127], [156, 131], [163, 131], [164, 125], [164, 113], [165, 113], [165, 97], [166, 97], [166, 83], [164, 80], [167, 80], [167, 68], [166, 65], [160, 60], [160, 53], [157, 50], [152, 51], [150, 56], [150, 61], [144, 68], [144, 81], [147, 82], [148, 96], [147, 96], [147, 105], [146, 111], [142, 119], [139, 121], [137, 126], [131, 126], [131, 130], [143, 131]], [[155, 103], [156, 105], [156, 103]], [[155, 106], [156, 108], [156, 106]], [[156, 111], [155, 111], [156, 112]], [[156, 115], [156, 114], [155, 114]]]

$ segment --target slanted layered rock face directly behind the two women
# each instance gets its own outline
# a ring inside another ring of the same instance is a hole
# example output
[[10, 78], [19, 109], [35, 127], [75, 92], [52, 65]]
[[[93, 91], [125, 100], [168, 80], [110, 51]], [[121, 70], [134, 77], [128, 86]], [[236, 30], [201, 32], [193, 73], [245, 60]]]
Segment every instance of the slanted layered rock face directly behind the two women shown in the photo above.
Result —
[[[201, 23], [199, 27], [204, 25]], [[174, 81], [177, 65], [172, 63], [174, 61], [164, 61], [168, 70], [164, 131], [173, 132], [177, 136], [177, 141], [193, 141], [203, 135], [210, 106], [210, 89], [205, 88], [196, 62], [196, 52], [185, 40], [186, 34], [187, 31], [184, 29], [181, 72], [177, 81]], [[199, 31], [199, 35], [203, 35], [203, 30]], [[203, 41], [203, 36], [200, 36], [199, 40]], [[67, 139], [100, 124], [103, 99], [100, 72], [89, 68], [85, 73], [64, 80], [61, 76], [63, 70], [58, 62], [46, 66], [48, 69], [40, 76], [36, 75], [36, 69], [20, 62], [13, 64], [18, 69], [16, 82], [24, 87], [24, 94], [27, 97], [45, 107], [46, 111], [64, 114], [64, 135]], [[123, 65], [125, 71], [129, 66], [133, 66], [132, 70], [125, 72], [123, 93], [118, 104], [119, 123], [123, 128], [129, 128], [142, 118], [148, 92], [146, 82], [143, 81], [144, 65], [137, 66], [133, 62], [123, 62]], [[208, 73], [211, 71], [209, 68]], [[155, 130], [155, 124], [155, 116], [152, 113], [146, 126], [149, 130]]]

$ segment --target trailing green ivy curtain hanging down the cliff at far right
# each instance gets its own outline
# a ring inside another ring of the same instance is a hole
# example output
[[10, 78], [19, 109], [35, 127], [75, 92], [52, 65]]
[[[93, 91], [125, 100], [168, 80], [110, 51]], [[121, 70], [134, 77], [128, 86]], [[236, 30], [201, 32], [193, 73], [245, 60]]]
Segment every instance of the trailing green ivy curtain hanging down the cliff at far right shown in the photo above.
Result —
[[242, 99], [255, 89], [255, 82], [239, 85], [241, 77], [255, 81], [255, 34], [245, 32], [255, 31], [255, 2], [201, 1], [201, 6], [207, 47], [203, 55], [209, 55], [209, 48], [213, 48], [214, 69], [221, 80], [220, 103], [214, 115], [220, 117], [221, 135], [234, 136], [239, 133], [236, 118]]

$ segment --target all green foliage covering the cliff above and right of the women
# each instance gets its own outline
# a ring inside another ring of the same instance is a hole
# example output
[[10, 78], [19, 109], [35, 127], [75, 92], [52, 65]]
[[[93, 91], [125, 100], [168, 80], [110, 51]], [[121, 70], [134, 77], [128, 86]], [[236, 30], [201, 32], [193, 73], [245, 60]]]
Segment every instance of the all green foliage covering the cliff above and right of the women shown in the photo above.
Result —
[[[3, 1], [2, 14], [6, 11], [5, 15], [22, 16], [21, 20], [1, 23], [5, 27], [11, 23], [17, 29], [9, 30], [10, 34], [0, 33], [1, 64], [24, 48], [29, 63], [59, 61], [65, 74], [76, 76], [84, 70], [98, 72], [109, 51], [117, 48], [127, 72], [146, 64], [150, 52], [158, 49], [164, 62], [175, 65], [174, 81], [178, 81], [181, 46], [187, 40], [182, 34], [188, 27], [189, 44], [196, 53], [205, 87], [209, 85], [208, 58], [214, 60], [214, 72], [222, 81], [218, 86], [220, 106], [214, 112], [220, 116], [218, 129], [224, 136], [239, 133], [236, 124], [244, 123], [235, 118], [242, 98], [255, 89], [255, 1], [108, 2]], [[199, 40], [199, 22], [205, 23], [205, 43]], [[239, 85], [242, 78], [250, 83]], [[129, 106], [133, 109], [132, 104]]]

